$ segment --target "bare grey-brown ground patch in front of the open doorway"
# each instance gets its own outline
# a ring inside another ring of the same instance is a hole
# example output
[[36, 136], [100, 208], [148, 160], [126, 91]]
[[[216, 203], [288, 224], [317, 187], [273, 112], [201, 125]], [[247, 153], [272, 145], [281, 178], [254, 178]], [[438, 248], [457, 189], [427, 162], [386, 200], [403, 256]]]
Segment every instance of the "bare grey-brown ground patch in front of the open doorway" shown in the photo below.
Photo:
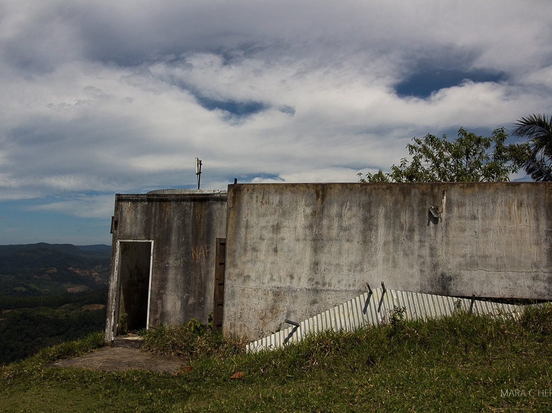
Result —
[[117, 372], [123, 370], [151, 370], [156, 373], [176, 374], [186, 360], [181, 357], [157, 356], [137, 348], [104, 346], [76, 358], [67, 358], [48, 364], [47, 367], [76, 367]]

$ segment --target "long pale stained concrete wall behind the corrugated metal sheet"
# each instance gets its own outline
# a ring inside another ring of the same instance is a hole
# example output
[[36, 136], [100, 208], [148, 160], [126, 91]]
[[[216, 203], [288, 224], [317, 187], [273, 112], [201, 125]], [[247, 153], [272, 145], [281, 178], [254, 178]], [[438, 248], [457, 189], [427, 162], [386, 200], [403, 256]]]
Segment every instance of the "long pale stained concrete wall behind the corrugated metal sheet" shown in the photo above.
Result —
[[382, 280], [552, 299], [551, 185], [231, 185], [223, 329], [256, 339]]

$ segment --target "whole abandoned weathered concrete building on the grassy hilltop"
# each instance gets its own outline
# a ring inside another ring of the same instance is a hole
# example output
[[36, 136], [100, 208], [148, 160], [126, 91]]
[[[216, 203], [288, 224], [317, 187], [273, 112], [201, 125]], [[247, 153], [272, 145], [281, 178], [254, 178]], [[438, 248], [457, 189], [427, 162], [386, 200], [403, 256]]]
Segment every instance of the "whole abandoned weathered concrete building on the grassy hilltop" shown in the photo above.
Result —
[[552, 299], [550, 183], [233, 184], [118, 194], [105, 340], [192, 318], [251, 340], [381, 280]]

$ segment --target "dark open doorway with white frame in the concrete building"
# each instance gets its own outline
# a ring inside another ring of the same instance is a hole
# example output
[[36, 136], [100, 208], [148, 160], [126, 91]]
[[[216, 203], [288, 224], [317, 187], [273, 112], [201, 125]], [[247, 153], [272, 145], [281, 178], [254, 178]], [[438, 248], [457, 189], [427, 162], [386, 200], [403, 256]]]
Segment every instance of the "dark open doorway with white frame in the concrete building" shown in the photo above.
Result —
[[147, 327], [151, 241], [120, 241], [115, 336]]

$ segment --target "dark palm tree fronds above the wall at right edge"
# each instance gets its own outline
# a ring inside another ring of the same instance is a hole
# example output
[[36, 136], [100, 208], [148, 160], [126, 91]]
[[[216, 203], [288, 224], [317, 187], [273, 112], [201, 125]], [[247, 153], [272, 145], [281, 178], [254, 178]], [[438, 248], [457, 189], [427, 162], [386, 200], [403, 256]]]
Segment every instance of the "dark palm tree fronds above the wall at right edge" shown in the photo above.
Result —
[[512, 135], [528, 140], [520, 166], [534, 181], [552, 181], [552, 118], [537, 113], [518, 119], [514, 125]]

